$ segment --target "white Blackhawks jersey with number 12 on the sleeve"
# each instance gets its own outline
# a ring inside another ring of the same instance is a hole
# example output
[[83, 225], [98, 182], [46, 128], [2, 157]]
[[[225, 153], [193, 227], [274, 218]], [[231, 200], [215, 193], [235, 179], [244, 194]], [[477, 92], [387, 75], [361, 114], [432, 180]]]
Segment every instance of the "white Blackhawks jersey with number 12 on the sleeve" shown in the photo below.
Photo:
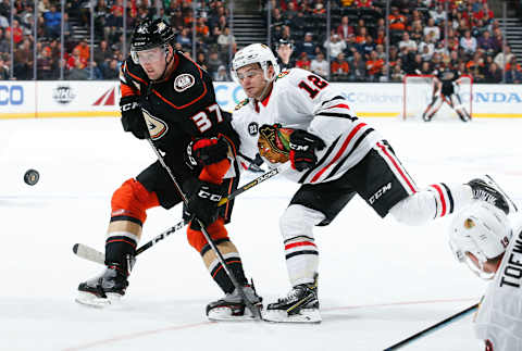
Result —
[[382, 140], [371, 126], [357, 117], [343, 91], [300, 68], [281, 73], [263, 101], [248, 99], [239, 103], [232, 123], [241, 140], [239, 153], [250, 159], [258, 153], [258, 128], [263, 124], [279, 123], [323, 139], [326, 147], [315, 151], [314, 168], [284, 173], [302, 184], [339, 178]]

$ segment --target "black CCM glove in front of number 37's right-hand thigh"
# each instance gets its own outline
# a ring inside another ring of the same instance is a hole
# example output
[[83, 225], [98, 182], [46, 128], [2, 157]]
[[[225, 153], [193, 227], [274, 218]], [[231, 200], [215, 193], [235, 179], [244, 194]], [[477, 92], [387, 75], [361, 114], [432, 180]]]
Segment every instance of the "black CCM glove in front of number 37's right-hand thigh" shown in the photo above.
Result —
[[223, 198], [221, 186], [198, 180], [188, 198], [187, 209], [190, 216], [208, 226], [217, 220], [217, 203]]

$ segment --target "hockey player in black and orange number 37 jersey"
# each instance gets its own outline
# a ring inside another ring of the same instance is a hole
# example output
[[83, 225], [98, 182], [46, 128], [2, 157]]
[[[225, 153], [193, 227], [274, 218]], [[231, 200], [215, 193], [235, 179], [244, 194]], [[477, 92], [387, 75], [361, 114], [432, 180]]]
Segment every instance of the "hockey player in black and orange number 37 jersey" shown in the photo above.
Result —
[[[225, 228], [233, 201], [217, 206], [219, 199], [237, 188], [239, 172], [234, 155], [238, 136], [231, 127], [231, 114], [216, 103], [210, 76], [174, 50], [174, 38], [173, 29], [162, 20], [145, 21], [136, 27], [130, 55], [120, 73], [123, 128], [138, 139], [150, 138], [164, 153], [188, 199], [184, 217], [190, 221], [196, 216], [206, 225], [228, 271], [244, 286], [245, 296], [260, 305], [261, 298], [248, 285], [239, 253]], [[128, 286], [146, 211], [159, 205], [171, 209], [179, 202], [182, 197], [159, 161], [116, 189], [105, 240], [107, 268], [79, 285], [76, 301], [103, 306], [121, 298]], [[189, 223], [187, 238], [225, 293], [224, 299], [207, 306], [209, 318], [251, 317], [195, 221]]]

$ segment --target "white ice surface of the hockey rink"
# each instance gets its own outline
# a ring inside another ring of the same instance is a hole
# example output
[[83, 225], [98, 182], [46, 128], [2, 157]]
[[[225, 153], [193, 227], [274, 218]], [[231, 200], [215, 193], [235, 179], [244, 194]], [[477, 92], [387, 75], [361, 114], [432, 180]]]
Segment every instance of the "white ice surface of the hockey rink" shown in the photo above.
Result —
[[[489, 172], [522, 202], [520, 120], [402, 123], [370, 118], [420, 186]], [[72, 246], [102, 249], [114, 189], [154, 160], [116, 118], [0, 121], [0, 350], [383, 350], [475, 303], [484, 290], [447, 245], [447, 220], [407, 227], [361, 200], [316, 228], [318, 325], [211, 323], [222, 293], [184, 231], [137, 260], [119, 305], [74, 302], [101, 267]], [[40, 180], [23, 181], [34, 168]], [[257, 291], [270, 303], [289, 290], [278, 216], [296, 185], [270, 179], [238, 197], [228, 226]], [[181, 220], [149, 211], [141, 243]], [[403, 350], [482, 350], [465, 317]]]

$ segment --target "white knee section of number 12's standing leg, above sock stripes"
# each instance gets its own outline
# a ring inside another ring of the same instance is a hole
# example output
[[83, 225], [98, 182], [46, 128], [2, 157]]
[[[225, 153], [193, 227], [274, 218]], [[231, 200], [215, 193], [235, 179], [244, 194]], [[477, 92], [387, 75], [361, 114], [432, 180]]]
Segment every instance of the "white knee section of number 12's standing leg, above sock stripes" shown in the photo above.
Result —
[[290, 204], [279, 218], [283, 240], [306, 236], [313, 238], [313, 227], [320, 224], [325, 215], [301, 204]]

